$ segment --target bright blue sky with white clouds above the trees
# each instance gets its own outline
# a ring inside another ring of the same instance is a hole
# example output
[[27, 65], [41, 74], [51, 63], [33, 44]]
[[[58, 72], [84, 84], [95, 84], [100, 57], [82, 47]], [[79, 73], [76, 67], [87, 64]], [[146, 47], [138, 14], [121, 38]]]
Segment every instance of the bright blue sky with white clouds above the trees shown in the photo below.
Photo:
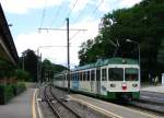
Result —
[[[67, 28], [70, 21], [70, 64], [79, 64], [78, 51], [83, 42], [98, 34], [101, 17], [117, 9], [130, 8], [141, 0], [0, 0], [19, 56], [26, 49], [43, 59], [67, 66]], [[84, 31], [71, 31], [84, 30]]]

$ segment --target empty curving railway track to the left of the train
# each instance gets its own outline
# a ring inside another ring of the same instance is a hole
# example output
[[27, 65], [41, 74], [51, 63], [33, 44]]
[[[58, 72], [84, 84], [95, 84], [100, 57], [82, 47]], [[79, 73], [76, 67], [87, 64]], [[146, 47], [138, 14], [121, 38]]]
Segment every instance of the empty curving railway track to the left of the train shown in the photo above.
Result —
[[75, 113], [75, 110], [55, 96], [51, 92], [51, 86], [45, 86], [44, 95], [48, 106], [55, 115], [55, 118], [82, 118]]

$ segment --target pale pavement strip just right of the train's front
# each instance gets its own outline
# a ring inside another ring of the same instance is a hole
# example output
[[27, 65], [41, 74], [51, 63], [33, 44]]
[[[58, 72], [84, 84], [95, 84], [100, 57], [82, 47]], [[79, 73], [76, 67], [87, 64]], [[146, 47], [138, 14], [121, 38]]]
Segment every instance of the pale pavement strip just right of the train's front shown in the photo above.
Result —
[[141, 91], [148, 91], [148, 92], [156, 92], [156, 93], [164, 93], [164, 84], [159, 85], [143, 85], [141, 86]]

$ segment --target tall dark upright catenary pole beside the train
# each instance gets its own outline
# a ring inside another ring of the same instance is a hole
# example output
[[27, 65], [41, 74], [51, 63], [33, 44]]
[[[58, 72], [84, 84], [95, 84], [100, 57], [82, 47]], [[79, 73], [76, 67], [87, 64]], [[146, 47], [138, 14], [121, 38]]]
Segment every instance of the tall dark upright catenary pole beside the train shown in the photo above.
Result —
[[69, 43], [69, 17], [66, 19], [67, 21], [67, 55], [68, 55], [68, 93], [70, 93], [70, 43]]

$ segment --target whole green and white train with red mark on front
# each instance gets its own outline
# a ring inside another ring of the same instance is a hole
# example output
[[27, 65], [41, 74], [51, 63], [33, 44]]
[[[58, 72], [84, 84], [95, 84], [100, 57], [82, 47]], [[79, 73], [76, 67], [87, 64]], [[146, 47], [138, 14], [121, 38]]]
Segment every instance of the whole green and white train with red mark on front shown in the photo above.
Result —
[[[68, 74], [54, 76], [54, 85], [68, 88]], [[110, 58], [70, 71], [70, 90], [108, 99], [140, 97], [140, 66], [137, 60]]]

